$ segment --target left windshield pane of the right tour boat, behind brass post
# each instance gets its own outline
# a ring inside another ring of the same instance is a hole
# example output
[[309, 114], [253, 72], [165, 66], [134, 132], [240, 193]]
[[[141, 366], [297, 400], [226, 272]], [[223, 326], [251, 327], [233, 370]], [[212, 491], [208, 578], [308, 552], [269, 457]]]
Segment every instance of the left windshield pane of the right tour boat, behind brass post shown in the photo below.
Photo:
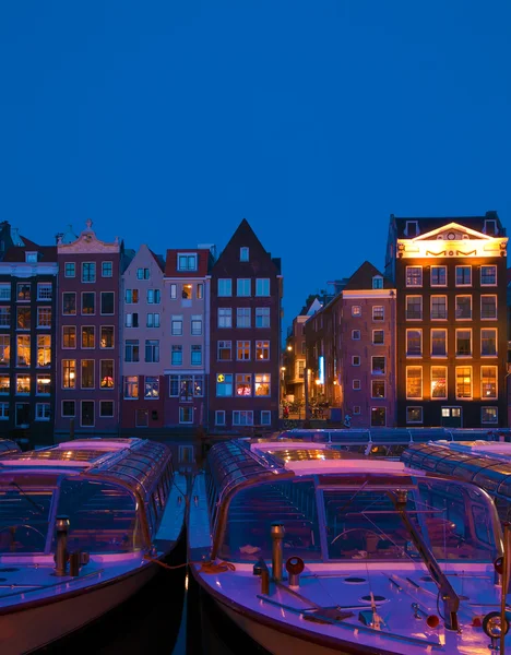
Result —
[[318, 512], [312, 481], [280, 481], [239, 491], [229, 505], [219, 557], [235, 562], [271, 559], [271, 525], [284, 525], [284, 560], [321, 560]]

